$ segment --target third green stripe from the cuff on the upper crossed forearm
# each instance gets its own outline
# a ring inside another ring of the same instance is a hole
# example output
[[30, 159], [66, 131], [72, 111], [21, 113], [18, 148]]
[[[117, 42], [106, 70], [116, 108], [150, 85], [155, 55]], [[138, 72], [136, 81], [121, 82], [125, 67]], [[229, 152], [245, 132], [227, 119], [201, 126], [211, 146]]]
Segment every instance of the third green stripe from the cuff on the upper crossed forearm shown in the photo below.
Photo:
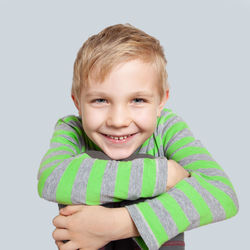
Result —
[[87, 205], [100, 204], [102, 179], [107, 163], [106, 160], [95, 160], [92, 165], [86, 190]]

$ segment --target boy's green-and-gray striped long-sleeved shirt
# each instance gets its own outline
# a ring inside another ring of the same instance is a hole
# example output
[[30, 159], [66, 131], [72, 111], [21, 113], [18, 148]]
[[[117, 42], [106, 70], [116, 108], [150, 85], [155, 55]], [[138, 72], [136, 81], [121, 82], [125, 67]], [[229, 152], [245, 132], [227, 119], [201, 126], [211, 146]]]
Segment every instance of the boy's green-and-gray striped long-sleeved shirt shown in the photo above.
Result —
[[[229, 178], [170, 109], [162, 111], [153, 135], [137, 150], [155, 159], [100, 160], [86, 150], [101, 149], [87, 137], [81, 119], [60, 119], [39, 168], [40, 197], [87, 205], [148, 198], [126, 206], [140, 233], [134, 240], [142, 249], [158, 249], [186, 230], [225, 220], [238, 211]], [[167, 159], [191, 174], [168, 192]]]

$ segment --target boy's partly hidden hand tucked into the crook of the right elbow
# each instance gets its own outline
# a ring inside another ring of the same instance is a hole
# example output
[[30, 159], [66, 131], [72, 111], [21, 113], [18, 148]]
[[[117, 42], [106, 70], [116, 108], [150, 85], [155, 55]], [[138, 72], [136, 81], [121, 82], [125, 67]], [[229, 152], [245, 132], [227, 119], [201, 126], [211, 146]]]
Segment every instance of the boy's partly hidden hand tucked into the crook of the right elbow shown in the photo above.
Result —
[[190, 174], [179, 163], [174, 160], [168, 160], [168, 180], [167, 191], [174, 187], [179, 181], [190, 177]]

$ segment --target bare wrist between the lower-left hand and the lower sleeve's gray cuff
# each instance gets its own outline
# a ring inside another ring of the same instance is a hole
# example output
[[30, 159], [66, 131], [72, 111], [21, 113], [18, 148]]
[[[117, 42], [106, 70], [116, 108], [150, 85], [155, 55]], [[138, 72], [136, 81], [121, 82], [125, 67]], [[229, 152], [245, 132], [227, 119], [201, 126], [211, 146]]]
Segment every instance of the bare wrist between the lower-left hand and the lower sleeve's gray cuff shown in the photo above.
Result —
[[113, 208], [113, 240], [140, 236], [127, 208]]

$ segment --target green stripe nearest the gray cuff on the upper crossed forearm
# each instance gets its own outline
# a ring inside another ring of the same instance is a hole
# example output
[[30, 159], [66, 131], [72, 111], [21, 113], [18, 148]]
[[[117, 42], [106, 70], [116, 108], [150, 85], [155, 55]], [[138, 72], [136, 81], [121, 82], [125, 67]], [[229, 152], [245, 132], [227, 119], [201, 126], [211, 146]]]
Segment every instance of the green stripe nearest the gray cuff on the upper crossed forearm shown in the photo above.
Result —
[[156, 182], [156, 161], [145, 158], [143, 160], [142, 190], [140, 197], [152, 197]]

